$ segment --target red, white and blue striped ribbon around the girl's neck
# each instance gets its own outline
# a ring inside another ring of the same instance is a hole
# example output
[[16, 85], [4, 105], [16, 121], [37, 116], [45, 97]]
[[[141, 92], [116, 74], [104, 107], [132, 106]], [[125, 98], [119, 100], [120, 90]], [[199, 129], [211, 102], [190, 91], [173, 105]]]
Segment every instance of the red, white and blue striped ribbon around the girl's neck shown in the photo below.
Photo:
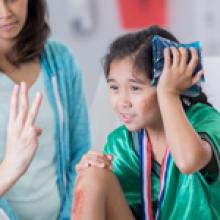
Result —
[[[140, 160], [141, 160], [141, 189], [142, 189], [142, 219], [153, 220], [152, 195], [151, 195], [151, 143], [142, 129], [140, 131]], [[158, 206], [156, 220], [159, 220], [161, 205], [164, 199], [164, 190], [166, 187], [167, 172], [170, 164], [170, 152], [166, 149], [160, 173], [160, 191], [158, 195]]]

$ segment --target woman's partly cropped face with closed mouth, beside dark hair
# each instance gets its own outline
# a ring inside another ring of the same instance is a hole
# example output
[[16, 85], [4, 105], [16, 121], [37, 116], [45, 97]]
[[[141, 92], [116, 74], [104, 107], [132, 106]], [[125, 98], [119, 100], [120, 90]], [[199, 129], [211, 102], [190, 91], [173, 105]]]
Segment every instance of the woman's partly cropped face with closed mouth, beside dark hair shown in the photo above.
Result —
[[0, 0], [0, 43], [13, 41], [21, 32], [27, 10], [28, 0]]

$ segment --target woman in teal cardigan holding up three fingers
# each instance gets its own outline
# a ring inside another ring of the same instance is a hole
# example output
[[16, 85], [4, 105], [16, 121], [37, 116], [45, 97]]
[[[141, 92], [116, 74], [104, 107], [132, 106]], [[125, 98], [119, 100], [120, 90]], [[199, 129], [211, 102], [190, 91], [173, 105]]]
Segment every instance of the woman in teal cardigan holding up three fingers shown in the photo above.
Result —
[[0, 0], [0, 219], [70, 219], [90, 146], [81, 73], [47, 40], [46, 11], [45, 0]]

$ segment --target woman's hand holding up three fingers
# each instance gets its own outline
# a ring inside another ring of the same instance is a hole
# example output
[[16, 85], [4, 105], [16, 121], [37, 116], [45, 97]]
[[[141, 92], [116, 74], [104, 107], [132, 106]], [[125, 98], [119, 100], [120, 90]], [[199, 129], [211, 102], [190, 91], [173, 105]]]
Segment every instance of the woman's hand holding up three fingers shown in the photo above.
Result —
[[12, 92], [6, 153], [2, 163], [17, 178], [26, 172], [38, 147], [42, 131], [36, 127], [35, 121], [41, 100], [42, 95], [37, 93], [29, 109], [28, 89], [24, 82], [21, 86], [16, 85]]

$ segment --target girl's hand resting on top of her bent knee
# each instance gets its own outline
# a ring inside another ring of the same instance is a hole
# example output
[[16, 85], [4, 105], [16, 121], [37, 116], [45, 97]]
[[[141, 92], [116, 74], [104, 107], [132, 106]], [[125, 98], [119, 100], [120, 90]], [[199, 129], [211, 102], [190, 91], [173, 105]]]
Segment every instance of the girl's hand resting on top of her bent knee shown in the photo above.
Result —
[[105, 155], [101, 152], [91, 150], [76, 165], [76, 172], [79, 173], [91, 166], [112, 170], [112, 160], [112, 155]]

